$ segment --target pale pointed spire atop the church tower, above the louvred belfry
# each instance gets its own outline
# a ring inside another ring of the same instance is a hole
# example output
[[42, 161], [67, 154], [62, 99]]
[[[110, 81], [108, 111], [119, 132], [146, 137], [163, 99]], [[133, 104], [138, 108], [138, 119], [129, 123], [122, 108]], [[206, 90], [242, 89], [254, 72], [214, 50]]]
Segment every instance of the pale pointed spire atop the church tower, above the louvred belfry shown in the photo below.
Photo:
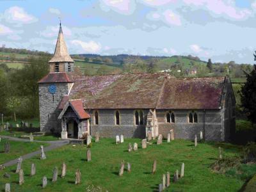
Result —
[[56, 62], [73, 62], [74, 63], [74, 61], [68, 54], [67, 45], [65, 43], [62, 28], [61, 28], [61, 21], [60, 21], [59, 35], [58, 35], [54, 55], [49, 61], [49, 63], [56, 63]]

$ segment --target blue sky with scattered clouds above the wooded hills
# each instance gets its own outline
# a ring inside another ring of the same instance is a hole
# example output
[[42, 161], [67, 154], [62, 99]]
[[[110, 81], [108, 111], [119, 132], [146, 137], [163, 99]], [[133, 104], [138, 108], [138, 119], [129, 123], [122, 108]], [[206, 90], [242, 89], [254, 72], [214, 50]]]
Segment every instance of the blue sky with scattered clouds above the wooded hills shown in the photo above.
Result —
[[256, 0], [0, 0], [0, 46], [253, 63]]

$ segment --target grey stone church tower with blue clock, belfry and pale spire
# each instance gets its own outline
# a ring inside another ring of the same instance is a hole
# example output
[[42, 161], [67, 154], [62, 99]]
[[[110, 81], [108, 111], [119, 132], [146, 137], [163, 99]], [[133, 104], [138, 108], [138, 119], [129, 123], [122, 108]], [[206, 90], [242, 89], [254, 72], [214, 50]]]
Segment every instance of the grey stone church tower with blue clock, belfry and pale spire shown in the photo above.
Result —
[[38, 81], [40, 131], [60, 132], [58, 105], [64, 95], [68, 95], [74, 79], [74, 61], [68, 54], [61, 23], [54, 55], [49, 61], [49, 74]]

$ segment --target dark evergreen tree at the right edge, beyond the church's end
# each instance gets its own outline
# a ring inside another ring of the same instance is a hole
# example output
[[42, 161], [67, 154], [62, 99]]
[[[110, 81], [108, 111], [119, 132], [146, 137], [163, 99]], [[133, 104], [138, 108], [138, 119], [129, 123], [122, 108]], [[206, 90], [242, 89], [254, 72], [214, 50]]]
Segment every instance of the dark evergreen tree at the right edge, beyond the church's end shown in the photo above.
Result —
[[[254, 60], [256, 61], [256, 51]], [[246, 74], [246, 83], [241, 88], [241, 106], [248, 120], [256, 124], [256, 65], [250, 74]]]

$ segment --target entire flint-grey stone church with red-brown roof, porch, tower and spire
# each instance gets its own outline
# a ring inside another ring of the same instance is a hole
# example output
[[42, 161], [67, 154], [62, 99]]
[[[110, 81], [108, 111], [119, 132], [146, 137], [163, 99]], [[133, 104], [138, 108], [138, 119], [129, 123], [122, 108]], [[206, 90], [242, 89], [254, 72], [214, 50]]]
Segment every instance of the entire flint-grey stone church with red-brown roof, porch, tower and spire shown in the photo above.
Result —
[[62, 29], [49, 74], [39, 82], [40, 129], [61, 138], [84, 133], [110, 138], [167, 136], [228, 141], [235, 131], [236, 100], [229, 77], [175, 78], [168, 74], [79, 76]]

